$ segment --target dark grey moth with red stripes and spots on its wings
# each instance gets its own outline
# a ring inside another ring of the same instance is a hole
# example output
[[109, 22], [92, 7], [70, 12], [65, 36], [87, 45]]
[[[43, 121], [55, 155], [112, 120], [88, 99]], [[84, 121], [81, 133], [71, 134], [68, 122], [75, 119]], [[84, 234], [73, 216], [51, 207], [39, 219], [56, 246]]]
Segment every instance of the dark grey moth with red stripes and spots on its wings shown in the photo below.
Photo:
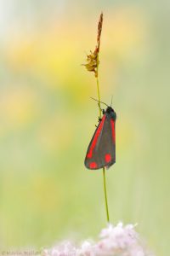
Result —
[[116, 113], [108, 107], [88, 146], [84, 161], [88, 169], [110, 167], [116, 162]]

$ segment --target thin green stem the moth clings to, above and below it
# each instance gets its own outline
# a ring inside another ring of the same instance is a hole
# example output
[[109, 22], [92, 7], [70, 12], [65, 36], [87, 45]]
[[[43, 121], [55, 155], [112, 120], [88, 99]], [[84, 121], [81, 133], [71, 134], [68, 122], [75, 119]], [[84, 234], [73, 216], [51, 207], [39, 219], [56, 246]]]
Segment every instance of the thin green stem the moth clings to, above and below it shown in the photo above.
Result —
[[[100, 108], [100, 94], [99, 94], [99, 54], [97, 55], [97, 68], [96, 68], [96, 81], [97, 81], [97, 91], [98, 91], [98, 99], [99, 99], [99, 118], [101, 118], [101, 108]], [[109, 219], [109, 207], [107, 203], [107, 191], [106, 191], [106, 183], [105, 183], [105, 167], [103, 167], [103, 179], [104, 179], [104, 192], [105, 192], [105, 210], [107, 216], [107, 222], [110, 222]]]

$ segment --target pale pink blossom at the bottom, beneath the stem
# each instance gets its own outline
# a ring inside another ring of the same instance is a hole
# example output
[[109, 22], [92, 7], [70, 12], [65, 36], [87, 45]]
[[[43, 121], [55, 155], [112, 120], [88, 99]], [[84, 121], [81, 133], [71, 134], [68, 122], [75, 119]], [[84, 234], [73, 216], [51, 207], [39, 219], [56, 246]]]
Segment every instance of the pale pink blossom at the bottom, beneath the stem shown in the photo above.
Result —
[[76, 247], [71, 241], [64, 241], [50, 249], [43, 250], [44, 256], [154, 256], [144, 246], [135, 225], [122, 223], [101, 230], [99, 241], [83, 241]]

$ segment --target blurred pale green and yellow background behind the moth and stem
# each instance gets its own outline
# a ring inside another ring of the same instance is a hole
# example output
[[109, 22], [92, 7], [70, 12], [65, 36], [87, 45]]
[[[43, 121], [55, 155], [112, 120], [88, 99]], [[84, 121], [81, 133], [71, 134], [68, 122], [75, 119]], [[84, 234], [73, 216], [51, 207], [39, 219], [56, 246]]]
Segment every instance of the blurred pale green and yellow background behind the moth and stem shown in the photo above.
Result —
[[117, 113], [111, 223], [139, 223], [157, 255], [170, 252], [170, 4], [152, 0], [0, 1], [1, 248], [97, 237], [106, 225], [102, 171], [83, 165], [99, 113], [81, 64], [101, 10], [100, 93]]

